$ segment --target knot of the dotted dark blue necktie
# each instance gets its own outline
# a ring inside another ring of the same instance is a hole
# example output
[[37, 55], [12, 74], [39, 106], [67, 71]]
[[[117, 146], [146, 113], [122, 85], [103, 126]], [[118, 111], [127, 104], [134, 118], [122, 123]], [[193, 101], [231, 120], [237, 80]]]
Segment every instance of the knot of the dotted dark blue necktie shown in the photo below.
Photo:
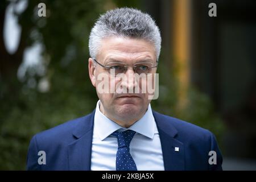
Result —
[[122, 148], [122, 147], [130, 146], [131, 139], [133, 139], [134, 134], [135, 134], [135, 131], [126, 130], [120, 133], [115, 131], [112, 135], [114, 137], [117, 137], [118, 148]]

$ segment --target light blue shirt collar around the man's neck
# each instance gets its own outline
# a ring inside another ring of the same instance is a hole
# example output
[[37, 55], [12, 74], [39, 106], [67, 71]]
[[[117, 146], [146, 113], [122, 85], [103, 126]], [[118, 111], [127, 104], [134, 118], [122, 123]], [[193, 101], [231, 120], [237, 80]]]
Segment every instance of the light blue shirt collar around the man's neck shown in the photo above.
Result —
[[155, 119], [152, 114], [152, 109], [150, 104], [148, 105], [146, 113], [141, 119], [131, 125], [129, 128], [122, 127], [110, 120], [100, 111], [100, 100], [97, 102], [95, 116], [94, 116], [94, 127], [96, 127], [96, 132], [101, 140], [104, 140], [114, 131], [125, 131], [133, 130], [139, 134], [142, 134], [148, 138], [154, 138], [154, 132], [156, 129]]

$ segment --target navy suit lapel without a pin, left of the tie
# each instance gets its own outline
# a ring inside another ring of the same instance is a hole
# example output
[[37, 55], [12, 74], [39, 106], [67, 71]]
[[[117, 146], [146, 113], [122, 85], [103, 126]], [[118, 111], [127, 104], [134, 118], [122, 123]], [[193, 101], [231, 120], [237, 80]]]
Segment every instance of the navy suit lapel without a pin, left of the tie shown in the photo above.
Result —
[[68, 146], [69, 170], [90, 170], [94, 113], [82, 119], [73, 132], [76, 140]]

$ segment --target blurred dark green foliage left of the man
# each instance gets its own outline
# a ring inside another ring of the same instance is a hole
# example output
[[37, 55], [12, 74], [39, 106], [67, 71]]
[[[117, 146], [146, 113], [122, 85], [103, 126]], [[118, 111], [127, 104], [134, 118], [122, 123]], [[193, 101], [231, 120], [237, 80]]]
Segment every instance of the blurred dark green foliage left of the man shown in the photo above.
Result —
[[[104, 11], [104, 1], [40, 2], [46, 3], [47, 17], [36, 18], [39, 1], [28, 1], [18, 18], [20, 26], [30, 31], [26, 45], [43, 44], [43, 62], [28, 68], [21, 82], [0, 80], [0, 169], [26, 169], [34, 134], [82, 117], [96, 106], [97, 95], [88, 76], [88, 37]], [[49, 81], [49, 92], [39, 92], [42, 78]], [[16, 89], [10, 92], [10, 85]]]

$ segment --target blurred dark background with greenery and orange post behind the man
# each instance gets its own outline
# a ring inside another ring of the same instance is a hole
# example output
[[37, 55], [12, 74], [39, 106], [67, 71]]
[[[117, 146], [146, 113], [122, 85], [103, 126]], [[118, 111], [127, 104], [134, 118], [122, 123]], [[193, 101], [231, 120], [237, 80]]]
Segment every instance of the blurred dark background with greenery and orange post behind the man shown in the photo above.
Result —
[[253, 0], [0, 1], [0, 169], [26, 169], [34, 134], [96, 107], [88, 36], [99, 14], [124, 6], [149, 13], [162, 34], [153, 109], [212, 131], [225, 170], [256, 170]]

